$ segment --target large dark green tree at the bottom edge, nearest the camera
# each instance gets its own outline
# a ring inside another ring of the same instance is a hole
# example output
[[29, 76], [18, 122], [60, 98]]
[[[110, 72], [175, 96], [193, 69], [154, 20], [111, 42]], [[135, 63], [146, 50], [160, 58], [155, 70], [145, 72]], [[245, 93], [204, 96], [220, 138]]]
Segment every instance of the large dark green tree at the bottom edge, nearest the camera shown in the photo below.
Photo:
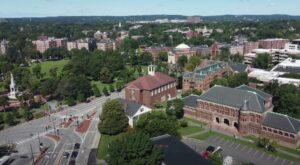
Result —
[[108, 164], [152, 165], [162, 160], [162, 151], [146, 134], [128, 133], [121, 139], [112, 141], [108, 148]]

